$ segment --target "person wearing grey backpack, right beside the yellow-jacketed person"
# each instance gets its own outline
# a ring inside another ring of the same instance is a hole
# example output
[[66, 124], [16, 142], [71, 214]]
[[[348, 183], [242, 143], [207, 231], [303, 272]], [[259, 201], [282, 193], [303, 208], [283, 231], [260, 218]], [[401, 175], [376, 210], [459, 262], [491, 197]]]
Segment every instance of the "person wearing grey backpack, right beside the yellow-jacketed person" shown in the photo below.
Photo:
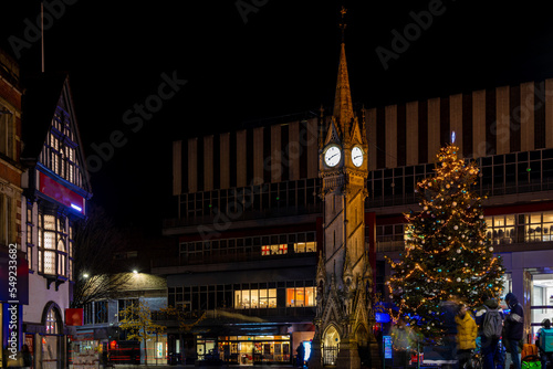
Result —
[[483, 369], [494, 369], [494, 358], [503, 329], [503, 314], [495, 298], [484, 295], [482, 299], [483, 305], [476, 312], [476, 321], [479, 326]]

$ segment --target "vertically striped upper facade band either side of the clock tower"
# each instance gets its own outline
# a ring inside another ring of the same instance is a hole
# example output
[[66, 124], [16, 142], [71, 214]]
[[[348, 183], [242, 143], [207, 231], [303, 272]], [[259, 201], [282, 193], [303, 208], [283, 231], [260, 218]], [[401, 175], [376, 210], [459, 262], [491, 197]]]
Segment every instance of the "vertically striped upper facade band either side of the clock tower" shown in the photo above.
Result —
[[[553, 80], [365, 110], [369, 170], [553, 148]], [[173, 194], [316, 178], [319, 118], [175, 141]]]

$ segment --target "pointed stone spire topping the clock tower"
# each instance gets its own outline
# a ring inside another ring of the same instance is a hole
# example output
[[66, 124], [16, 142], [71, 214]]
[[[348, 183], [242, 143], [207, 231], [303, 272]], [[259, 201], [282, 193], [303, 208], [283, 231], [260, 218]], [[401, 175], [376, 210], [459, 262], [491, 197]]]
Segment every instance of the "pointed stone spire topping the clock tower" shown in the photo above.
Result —
[[352, 92], [349, 89], [349, 76], [347, 74], [344, 43], [344, 31], [346, 28], [346, 24], [344, 23], [344, 15], [347, 9], [344, 7], [342, 7], [342, 10], [340, 11], [342, 13], [342, 23], [340, 23], [340, 28], [342, 30], [342, 48], [340, 51], [338, 77], [336, 82], [336, 95], [334, 97], [333, 112], [334, 117], [342, 127], [347, 125], [353, 118]]

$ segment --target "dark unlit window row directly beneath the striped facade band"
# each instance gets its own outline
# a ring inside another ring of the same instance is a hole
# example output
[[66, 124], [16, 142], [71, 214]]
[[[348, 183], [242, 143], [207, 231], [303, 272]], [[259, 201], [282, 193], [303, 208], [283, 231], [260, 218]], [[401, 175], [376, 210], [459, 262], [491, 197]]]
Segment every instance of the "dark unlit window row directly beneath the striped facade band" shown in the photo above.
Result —
[[[553, 149], [511, 152], [476, 158], [481, 194], [519, 193], [553, 188]], [[366, 207], [416, 202], [417, 182], [434, 176], [434, 164], [378, 169], [368, 173]], [[262, 183], [246, 188], [184, 193], [181, 217], [216, 215], [219, 212], [247, 217], [249, 212], [295, 209], [319, 211], [320, 179]]]

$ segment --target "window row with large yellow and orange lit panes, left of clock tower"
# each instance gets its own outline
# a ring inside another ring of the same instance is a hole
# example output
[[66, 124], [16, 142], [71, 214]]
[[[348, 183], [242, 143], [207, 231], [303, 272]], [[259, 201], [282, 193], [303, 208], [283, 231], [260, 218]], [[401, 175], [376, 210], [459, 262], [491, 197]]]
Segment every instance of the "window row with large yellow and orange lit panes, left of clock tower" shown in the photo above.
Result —
[[313, 281], [169, 287], [168, 304], [185, 312], [306, 307], [315, 306], [316, 287]]

